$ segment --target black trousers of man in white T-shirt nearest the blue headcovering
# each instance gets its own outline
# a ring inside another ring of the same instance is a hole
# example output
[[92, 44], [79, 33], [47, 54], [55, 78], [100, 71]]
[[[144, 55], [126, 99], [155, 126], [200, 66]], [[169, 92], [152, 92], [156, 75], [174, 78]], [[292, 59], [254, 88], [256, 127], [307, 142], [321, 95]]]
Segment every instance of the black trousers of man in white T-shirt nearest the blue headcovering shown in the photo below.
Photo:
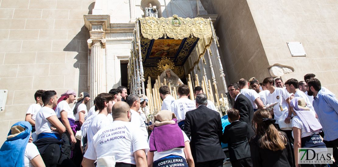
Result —
[[58, 144], [50, 144], [41, 157], [46, 167], [75, 167], [75, 164], [61, 152]]

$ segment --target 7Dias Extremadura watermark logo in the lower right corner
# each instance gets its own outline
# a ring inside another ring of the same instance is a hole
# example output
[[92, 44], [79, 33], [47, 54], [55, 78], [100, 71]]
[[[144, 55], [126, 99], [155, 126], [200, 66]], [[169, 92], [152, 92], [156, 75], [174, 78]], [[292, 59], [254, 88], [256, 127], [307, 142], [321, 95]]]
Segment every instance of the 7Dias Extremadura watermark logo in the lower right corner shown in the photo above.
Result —
[[298, 164], [332, 164], [332, 148], [298, 148]]

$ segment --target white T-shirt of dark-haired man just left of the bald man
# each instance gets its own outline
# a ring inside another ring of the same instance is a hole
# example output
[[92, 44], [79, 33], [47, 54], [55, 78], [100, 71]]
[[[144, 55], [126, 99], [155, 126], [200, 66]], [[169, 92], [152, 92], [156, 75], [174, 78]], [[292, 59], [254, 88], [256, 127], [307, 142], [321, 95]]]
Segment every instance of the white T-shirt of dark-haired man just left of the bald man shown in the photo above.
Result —
[[89, 144], [92, 142], [93, 137], [97, 133], [97, 131], [112, 123], [113, 120], [110, 119], [110, 117], [110, 114], [108, 114], [107, 116], [105, 116], [104, 114], [97, 114], [94, 116], [92, 121], [89, 123], [89, 127], [87, 129], [87, 139]]

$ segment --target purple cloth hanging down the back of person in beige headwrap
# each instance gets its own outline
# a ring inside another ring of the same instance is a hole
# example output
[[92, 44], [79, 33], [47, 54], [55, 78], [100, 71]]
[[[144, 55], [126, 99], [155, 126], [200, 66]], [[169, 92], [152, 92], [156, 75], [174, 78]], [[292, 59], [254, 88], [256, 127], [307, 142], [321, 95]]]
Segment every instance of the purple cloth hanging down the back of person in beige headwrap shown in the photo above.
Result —
[[184, 136], [178, 124], [154, 127], [149, 138], [150, 151], [162, 152], [172, 148], [184, 148]]

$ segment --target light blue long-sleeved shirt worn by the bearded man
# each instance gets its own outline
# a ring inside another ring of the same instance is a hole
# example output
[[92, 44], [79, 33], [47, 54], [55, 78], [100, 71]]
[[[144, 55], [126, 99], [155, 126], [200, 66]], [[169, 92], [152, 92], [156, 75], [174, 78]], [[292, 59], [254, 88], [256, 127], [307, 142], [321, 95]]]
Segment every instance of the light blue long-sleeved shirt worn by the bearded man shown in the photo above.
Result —
[[323, 127], [324, 140], [332, 141], [338, 138], [338, 100], [330, 92], [319, 90], [313, 98], [312, 106], [318, 115], [319, 122]]

